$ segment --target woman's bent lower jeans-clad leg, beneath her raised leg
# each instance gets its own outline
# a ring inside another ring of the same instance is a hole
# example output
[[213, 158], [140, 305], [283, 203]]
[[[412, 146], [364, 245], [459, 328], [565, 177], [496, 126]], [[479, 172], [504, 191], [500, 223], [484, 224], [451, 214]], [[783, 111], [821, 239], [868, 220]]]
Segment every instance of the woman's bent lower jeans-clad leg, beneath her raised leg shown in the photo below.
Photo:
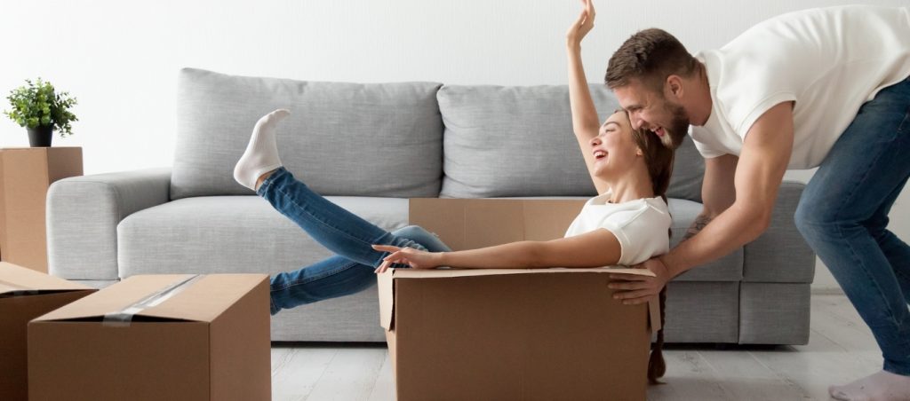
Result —
[[[420, 226], [407, 226], [391, 234], [414, 241], [430, 252], [450, 251], [449, 246]], [[331, 256], [311, 266], [278, 273], [271, 280], [270, 312], [275, 315], [281, 309], [358, 293], [376, 283], [374, 268], [343, 256]]]

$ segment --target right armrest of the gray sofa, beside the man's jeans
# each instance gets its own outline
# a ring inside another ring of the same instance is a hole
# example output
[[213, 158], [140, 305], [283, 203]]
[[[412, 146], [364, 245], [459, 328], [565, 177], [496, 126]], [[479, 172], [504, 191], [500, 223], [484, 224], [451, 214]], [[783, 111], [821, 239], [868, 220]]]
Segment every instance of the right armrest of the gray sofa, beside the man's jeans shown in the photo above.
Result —
[[777, 193], [771, 226], [743, 246], [743, 281], [752, 283], [812, 283], [815, 253], [796, 230], [794, 214], [803, 183], [784, 181]]

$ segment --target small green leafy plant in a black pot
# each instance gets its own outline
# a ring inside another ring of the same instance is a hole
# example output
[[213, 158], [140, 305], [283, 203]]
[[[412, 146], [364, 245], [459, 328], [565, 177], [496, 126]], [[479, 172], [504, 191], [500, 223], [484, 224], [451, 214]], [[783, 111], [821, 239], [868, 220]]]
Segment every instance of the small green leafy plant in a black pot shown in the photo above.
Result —
[[25, 126], [29, 145], [50, 146], [55, 129], [61, 137], [72, 135], [70, 123], [78, 119], [69, 108], [76, 105], [76, 98], [66, 92], [57, 94], [54, 85], [41, 78], [36, 84], [26, 79], [25, 84], [6, 97], [13, 109], [4, 110], [4, 114], [16, 124]]

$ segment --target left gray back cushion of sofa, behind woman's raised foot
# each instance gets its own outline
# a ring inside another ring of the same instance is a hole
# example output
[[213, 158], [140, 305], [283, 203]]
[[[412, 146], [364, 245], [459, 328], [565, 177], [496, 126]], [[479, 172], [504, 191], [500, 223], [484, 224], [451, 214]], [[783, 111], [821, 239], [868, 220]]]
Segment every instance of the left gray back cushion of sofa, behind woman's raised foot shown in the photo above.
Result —
[[278, 153], [324, 195], [437, 196], [442, 176], [440, 84], [342, 84], [185, 68], [177, 89], [171, 199], [252, 195], [233, 169], [253, 125], [277, 108]]

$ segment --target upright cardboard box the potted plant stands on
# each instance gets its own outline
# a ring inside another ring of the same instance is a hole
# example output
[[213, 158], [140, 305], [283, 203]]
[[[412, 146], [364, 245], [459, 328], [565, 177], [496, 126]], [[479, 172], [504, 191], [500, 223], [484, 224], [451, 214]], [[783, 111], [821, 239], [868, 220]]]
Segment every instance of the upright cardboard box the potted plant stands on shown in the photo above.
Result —
[[81, 147], [0, 149], [0, 259], [47, 272], [47, 188], [74, 175], [82, 175]]

